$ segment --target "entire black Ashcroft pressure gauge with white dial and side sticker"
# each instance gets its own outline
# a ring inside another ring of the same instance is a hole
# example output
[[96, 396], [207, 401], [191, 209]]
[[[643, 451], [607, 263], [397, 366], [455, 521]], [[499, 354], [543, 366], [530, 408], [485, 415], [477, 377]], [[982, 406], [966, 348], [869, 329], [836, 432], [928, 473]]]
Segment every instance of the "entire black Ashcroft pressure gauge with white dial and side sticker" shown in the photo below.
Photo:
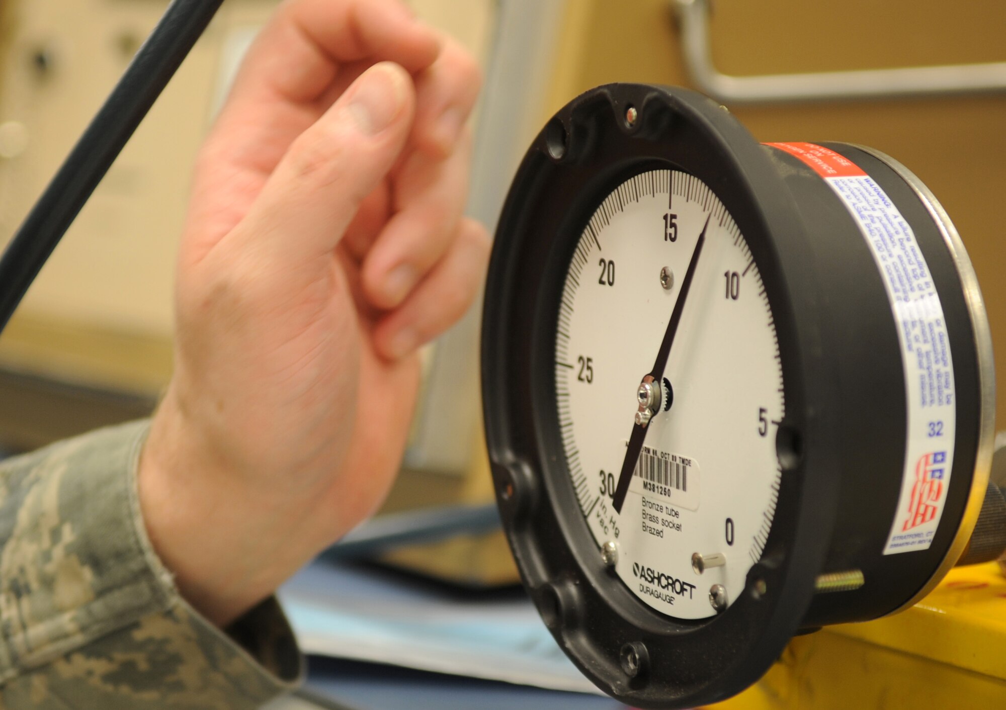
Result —
[[482, 358], [524, 582], [635, 707], [720, 700], [794, 634], [913, 603], [993, 490], [988, 323], [935, 197], [685, 90], [602, 86], [542, 130]]

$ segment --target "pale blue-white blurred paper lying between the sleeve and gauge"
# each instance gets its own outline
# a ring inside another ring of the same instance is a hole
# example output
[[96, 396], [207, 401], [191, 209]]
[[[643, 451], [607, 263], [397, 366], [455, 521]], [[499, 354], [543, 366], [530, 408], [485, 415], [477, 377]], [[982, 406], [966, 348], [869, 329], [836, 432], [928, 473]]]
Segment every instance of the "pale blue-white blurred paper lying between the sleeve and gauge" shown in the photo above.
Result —
[[280, 598], [309, 655], [597, 693], [519, 587], [466, 591], [319, 562], [284, 585]]

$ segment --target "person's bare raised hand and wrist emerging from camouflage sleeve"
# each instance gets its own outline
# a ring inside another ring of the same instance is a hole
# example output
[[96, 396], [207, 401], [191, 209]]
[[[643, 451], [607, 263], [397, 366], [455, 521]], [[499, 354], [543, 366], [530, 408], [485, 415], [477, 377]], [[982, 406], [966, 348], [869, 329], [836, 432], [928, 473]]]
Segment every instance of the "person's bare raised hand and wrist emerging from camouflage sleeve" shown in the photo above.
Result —
[[155, 549], [220, 626], [397, 473], [415, 350], [467, 310], [488, 258], [462, 217], [479, 82], [394, 0], [289, 0], [200, 153], [175, 375], [139, 486]]

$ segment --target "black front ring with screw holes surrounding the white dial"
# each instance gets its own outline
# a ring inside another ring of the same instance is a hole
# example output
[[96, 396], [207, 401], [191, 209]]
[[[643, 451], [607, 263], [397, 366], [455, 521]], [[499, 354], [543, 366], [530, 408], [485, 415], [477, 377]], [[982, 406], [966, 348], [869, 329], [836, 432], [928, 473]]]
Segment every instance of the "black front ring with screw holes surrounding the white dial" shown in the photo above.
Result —
[[[626, 120], [630, 107], [635, 124]], [[504, 238], [494, 247], [483, 382], [507, 536], [559, 645], [599, 687], [637, 707], [714, 702], [761, 677], [797, 632], [831, 537], [839, 458], [836, 427], [821, 403], [836, 393], [822, 376], [819, 296], [812, 270], [802, 268], [811, 259], [805, 227], [766, 150], [692, 92], [599, 87], [539, 134], [514, 180], [499, 227]], [[783, 365], [780, 438], [789, 450], [772, 532], [744, 593], [722, 614], [699, 622], [644, 604], [603, 564], [557, 437], [554, 325], [569, 255], [611, 189], [653, 167], [695, 175], [730, 212], [765, 281]], [[627, 649], [642, 659], [635, 672], [625, 666]]]

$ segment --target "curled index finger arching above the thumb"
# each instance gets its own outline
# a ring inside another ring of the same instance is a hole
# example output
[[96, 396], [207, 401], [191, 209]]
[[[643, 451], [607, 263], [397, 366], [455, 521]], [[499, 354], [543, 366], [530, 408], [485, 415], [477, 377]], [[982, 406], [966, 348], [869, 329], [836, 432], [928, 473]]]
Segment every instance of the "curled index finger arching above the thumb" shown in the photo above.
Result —
[[343, 67], [423, 71], [438, 34], [397, 0], [287, 0], [245, 57], [196, 171], [190, 223], [212, 241], [244, 216], [293, 142], [327, 109]]

